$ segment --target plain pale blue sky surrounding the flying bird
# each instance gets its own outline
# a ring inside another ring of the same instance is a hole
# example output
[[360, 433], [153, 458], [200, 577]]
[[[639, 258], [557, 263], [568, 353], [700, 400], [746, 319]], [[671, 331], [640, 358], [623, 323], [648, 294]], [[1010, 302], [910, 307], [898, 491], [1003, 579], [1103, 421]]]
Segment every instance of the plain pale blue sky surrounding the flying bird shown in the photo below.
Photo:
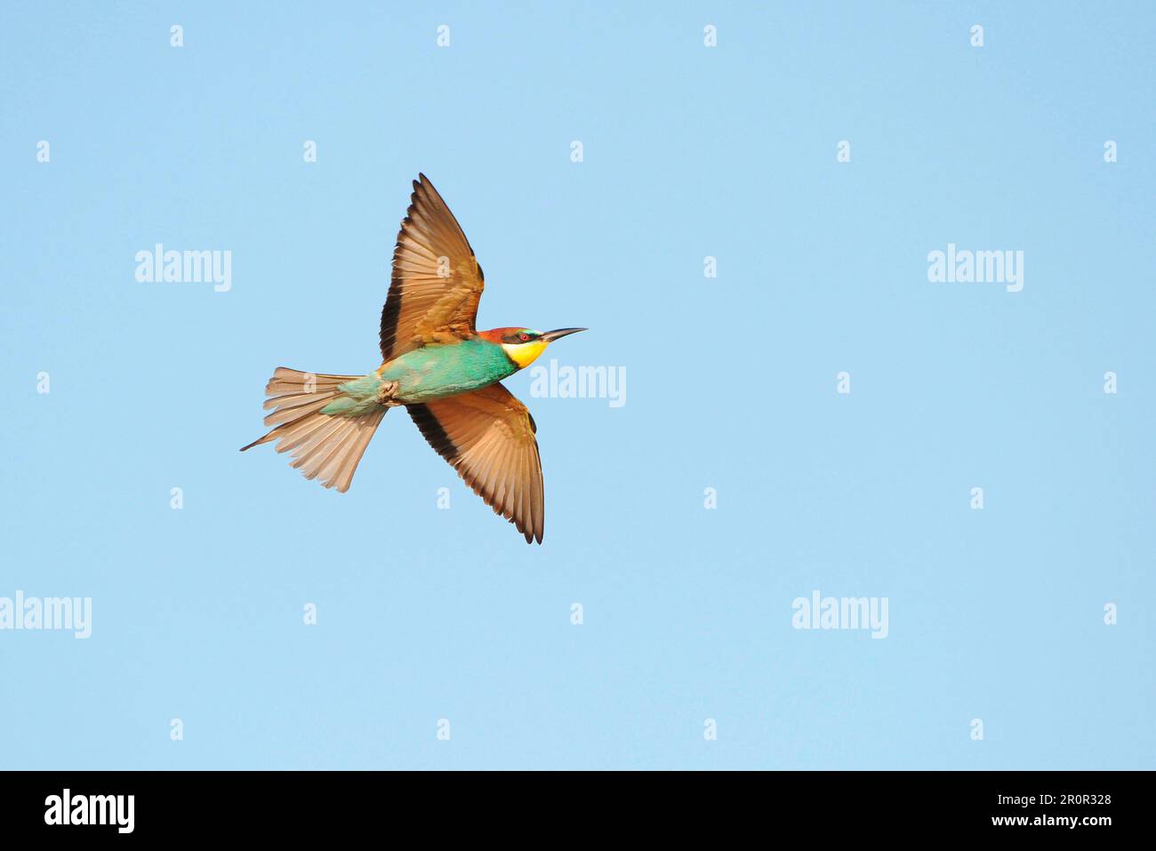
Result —
[[[0, 597], [92, 635], [0, 631], [0, 768], [1156, 768], [1154, 43], [1147, 2], [5, 3]], [[542, 547], [400, 410], [346, 495], [237, 452], [274, 367], [378, 365], [418, 171], [481, 327], [625, 369], [506, 383]], [[138, 282], [156, 243], [231, 290]], [[928, 282], [948, 243], [1023, 291]], [[889, 636], [793, 629], [815, 590]]]

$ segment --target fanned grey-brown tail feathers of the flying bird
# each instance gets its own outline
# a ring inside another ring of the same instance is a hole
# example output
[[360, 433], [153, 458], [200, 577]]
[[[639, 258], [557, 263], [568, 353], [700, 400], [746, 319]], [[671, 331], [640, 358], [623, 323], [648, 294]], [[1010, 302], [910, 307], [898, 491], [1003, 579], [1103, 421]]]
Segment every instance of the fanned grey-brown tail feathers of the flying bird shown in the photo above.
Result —
[[240, 451], [276, 441], [277, 452], [289, 452], [292, 466], [306, 479], [320, 479], [325, 487], [346, 493], [387, 410], [383, 407], [361, 416], [321, 413], [321, 408], [342, 395], [339, 386], [356, 378], [360, 376], [314, 375], [277, 367], [265, 387], [269, 397], [265, 407], [273, 408], [265, 424], [275, 428]]

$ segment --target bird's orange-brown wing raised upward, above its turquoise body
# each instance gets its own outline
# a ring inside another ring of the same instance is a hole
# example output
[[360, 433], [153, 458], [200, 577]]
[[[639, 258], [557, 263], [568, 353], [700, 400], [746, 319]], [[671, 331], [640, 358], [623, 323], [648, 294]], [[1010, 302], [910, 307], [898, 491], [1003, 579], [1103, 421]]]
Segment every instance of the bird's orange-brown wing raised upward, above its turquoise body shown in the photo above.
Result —
[[391, 361], [427, 342], [474, 333], [484, 278], [469, 240], [425, 175], [414, 180], [393, 250], [393, 279], [381, 310], [381, 356]]

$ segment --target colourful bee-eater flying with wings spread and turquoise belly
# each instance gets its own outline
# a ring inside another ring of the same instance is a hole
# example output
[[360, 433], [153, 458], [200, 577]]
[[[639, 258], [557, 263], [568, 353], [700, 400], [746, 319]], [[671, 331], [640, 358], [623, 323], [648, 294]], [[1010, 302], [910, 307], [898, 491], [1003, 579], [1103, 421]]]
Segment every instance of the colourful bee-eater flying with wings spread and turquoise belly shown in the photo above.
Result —
[[242, 452], [276, 442], [306, 479], [344, 493], [390, 408], [405, 406], [429, 444], [494, 512], [542, 542], [538, 427], [499, 383], [558, 338], [586, 328], [476, 331], [486, 278], [458, 220], [425, 175], [414, 180], [381, 310], [381, 365], [365, 376], [279, 367], [266, 426]]

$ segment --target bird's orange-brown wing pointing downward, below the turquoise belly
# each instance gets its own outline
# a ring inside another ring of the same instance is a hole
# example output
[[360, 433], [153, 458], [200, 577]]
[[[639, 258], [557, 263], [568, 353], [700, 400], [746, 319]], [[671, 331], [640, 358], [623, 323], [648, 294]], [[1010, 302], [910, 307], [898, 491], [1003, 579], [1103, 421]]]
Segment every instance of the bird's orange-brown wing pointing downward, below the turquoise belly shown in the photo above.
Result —
[[410, 405], [417, 428], [486, 504], [542, 542], [546, 502], [534, 417], [501, 384]]

